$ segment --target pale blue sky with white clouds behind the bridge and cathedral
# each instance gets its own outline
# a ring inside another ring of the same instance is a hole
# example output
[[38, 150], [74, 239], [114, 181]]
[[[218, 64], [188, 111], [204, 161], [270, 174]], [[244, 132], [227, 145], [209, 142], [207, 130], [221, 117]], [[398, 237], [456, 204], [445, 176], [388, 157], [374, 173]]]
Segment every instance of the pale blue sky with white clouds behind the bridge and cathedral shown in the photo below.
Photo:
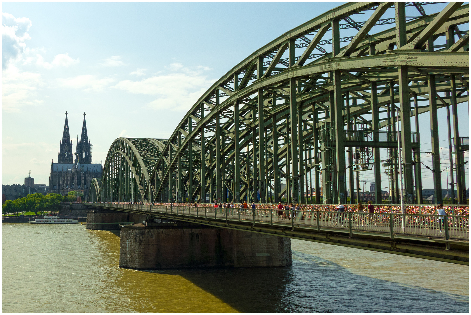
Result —
[[[2, 183], [23, 184], [31, 170], [35, 183], [49, 185], [65, 111], [73, 151], [86, 112], [93, 163], [105, 161], [118, 137], [168, 138], [233, 66], [339, 5], [3, 3]], [[468, 135], [467, 104], [459, 111]], [[430, 142], [422, 126], [422, 143]], [[446, 126], [440, 141], [445, 150]], [[423, 188], [433, 184], [424, 181]]]

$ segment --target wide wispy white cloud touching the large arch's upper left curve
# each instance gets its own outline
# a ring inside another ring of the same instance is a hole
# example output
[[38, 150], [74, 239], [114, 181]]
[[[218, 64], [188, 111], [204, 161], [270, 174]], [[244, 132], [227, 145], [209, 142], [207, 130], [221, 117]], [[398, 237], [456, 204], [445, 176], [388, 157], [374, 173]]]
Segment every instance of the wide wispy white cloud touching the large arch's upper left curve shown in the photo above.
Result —
[[181, 63], [172, 63], [165, 68], [179, 73], [154, 75], [141, 81], [123, 80], [113, 87], [133, 94], [157, 95], [157, 99], [147, 104], [156, 110], [186, 111], [214, 82], [203, 75], [207, 67], [192, 70]]

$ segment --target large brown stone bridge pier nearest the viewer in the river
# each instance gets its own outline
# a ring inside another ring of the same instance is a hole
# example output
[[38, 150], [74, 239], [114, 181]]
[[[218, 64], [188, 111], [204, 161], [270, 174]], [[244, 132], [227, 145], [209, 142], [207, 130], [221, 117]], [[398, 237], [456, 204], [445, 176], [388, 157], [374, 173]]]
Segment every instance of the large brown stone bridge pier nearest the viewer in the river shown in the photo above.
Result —
[[292, 264], [291, 239], [204, 226], [121, 228], [119, 267], [283, 267]]

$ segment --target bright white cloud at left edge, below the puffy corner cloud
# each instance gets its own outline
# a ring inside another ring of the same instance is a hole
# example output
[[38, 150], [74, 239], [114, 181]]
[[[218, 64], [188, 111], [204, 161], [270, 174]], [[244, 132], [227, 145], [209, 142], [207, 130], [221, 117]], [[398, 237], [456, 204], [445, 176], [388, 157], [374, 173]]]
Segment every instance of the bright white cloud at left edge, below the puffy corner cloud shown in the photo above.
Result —
[[3, 110], [18, 112], [24, 105], [39, 105], [43, 101], [34, 99], [38, 89], [44, 85], [41, 74], [20, 72], [10, 64], [3, 71], [2, 101]]

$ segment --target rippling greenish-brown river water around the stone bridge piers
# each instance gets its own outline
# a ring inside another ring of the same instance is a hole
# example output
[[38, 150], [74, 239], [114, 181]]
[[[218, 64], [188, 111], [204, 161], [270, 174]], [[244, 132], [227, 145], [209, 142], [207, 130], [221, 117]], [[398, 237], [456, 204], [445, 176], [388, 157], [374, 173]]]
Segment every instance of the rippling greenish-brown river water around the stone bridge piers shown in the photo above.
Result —
[[286, 268], [118, 268], [119, 231], [3, 223], [3, 312], [468, 312], [468, 266], [292, 240]]

